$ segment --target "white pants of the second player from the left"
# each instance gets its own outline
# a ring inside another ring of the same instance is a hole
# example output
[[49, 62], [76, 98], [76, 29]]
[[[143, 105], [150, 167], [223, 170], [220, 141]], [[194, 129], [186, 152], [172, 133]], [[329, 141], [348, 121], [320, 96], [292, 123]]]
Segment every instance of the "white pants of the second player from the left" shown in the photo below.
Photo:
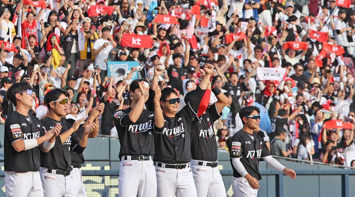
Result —
[[73, 177], [48, 173], [48, 168], [40, 167], [44, 197], [73, 197]]

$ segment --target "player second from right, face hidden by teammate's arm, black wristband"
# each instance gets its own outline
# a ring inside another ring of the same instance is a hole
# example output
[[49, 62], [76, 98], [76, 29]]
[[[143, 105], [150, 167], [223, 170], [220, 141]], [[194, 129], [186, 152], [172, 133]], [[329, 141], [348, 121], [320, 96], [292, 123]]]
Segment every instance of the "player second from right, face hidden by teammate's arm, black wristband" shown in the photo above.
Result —
[[[222, 176], [216, 168], [218, 166], [217, 143], [213, 123], [222, 116], [228, 98], [214, 84], [212, 86], [211, 88], [209, 83], [208, 89], [212, 89], [218, 99], [217, 102], [207, 108], [202, 116], [195, 117], [191, 127], [191, 169], [198, 197], [226, 196]], [[188, 102], [194, 92], [186, 94], [185, 101]]]

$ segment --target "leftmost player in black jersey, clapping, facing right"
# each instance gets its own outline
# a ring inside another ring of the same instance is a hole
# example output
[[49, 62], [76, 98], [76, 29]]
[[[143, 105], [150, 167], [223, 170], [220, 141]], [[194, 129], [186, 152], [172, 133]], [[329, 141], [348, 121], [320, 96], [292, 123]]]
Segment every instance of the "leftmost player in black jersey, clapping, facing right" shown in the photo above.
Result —
[[7, 98], [15, 106], [5, 121], [4, 134], [5, 189], [9, 197], [43, 196], [39, 149], [48, 152], [61, 128], [55, 125], [44, 133], [38, 118], [28, 114], [34, 99], [32, 93], [26, 82], [15, 83], [7, 90]]

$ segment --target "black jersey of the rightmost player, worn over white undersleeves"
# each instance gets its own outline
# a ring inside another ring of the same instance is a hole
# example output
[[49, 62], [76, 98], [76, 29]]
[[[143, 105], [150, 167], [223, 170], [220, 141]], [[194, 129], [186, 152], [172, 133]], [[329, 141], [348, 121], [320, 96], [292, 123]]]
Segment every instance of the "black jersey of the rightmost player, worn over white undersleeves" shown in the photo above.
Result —
[[255, 133], [250, 135], [244, 130], [240, 130], [229, 139], [228, 148], [234, 177], [242, 175], [234, 168], [232, 158], [240, 158], [245, 170], [255, 179], [261, 180], [259, 160], [270, 155], [269, 148], [263, 138]]

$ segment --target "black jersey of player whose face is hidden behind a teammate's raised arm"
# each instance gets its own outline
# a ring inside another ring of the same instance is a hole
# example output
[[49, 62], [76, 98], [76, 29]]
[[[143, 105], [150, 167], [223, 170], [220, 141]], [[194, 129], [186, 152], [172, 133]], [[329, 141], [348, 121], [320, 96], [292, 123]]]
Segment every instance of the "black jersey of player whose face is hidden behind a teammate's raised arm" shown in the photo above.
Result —
[[192, 159], [208, 162], [217, 161], [217, 143], [213, 131], [213, 122], [222, 116], [218, 114], [214, 103], [206, 109], [201, 119], [196, 117], [191, 126], [191, 156]]

